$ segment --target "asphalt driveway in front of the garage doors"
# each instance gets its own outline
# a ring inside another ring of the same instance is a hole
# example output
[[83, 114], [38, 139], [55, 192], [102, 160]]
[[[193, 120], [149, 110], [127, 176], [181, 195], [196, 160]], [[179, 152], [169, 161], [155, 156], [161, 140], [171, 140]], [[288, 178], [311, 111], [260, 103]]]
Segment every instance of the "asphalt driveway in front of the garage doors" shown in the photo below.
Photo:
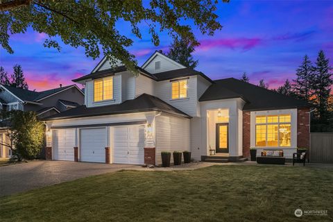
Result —
[[0, 197], [60, 182], [139, 166], [69, 161], [34, 161], [0, 167]]

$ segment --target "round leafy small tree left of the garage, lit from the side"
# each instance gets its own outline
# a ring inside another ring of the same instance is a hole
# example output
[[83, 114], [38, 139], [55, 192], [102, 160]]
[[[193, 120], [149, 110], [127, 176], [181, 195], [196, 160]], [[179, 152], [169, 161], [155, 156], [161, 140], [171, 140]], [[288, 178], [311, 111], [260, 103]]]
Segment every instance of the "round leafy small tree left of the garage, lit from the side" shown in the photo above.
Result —
[[12, 150], [18, 160], [32, 160], [40, 153], [44, 144], [44, 123], [31, 111], [12, 110], [3, 117], [10, 122], [7, 136], [9, 143], [0, 143]]

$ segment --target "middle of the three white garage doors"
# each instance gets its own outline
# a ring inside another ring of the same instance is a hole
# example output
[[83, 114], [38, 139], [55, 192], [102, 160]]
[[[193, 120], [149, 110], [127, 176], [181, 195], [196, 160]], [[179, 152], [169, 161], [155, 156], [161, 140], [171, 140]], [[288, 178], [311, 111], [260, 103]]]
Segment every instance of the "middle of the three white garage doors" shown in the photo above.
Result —
[[106, 128], [80, 130], [80, 161], [105, 162]]

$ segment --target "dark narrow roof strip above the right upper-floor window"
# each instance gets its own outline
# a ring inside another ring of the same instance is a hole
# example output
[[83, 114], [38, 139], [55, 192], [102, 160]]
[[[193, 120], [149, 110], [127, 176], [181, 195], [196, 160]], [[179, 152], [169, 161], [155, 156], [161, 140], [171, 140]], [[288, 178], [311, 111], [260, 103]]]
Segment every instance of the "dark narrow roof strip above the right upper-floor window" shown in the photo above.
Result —
[[208, 76], [203, 74], [201, 71], [196, 71], [191, 68], [173, 69], [170, 71], [163, 71], [163, 72], [159, 72], [157, 74], [152, 74], [152, 76], [154, 76], [157, 81], [169, 80], [172, 78], [181, 78], [181, 77], [187, 77], [187, 76], [196, 76], [196, 75], [203, 76], [203, 78], [205, 78], [209, 82], [213, 83], [213, 80], [211, 80]]

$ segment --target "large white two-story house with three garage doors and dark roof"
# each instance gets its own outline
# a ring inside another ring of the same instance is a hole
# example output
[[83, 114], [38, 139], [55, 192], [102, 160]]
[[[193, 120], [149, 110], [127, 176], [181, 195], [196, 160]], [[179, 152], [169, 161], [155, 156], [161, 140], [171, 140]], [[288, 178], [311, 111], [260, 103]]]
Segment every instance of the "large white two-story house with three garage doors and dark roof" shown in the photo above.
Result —
[[[161, 151], [215, 150], [229, 161], [250, 147], [309, 147], [309, 104], [234, 78], [211, 80], [159, 52], [133, 74], [103, 58], [85, 85], [85, 105], [45, 118], [46, 157], [122, 164], [161, 163]], [[258, 152], [259, 153], [259, 152]]]

